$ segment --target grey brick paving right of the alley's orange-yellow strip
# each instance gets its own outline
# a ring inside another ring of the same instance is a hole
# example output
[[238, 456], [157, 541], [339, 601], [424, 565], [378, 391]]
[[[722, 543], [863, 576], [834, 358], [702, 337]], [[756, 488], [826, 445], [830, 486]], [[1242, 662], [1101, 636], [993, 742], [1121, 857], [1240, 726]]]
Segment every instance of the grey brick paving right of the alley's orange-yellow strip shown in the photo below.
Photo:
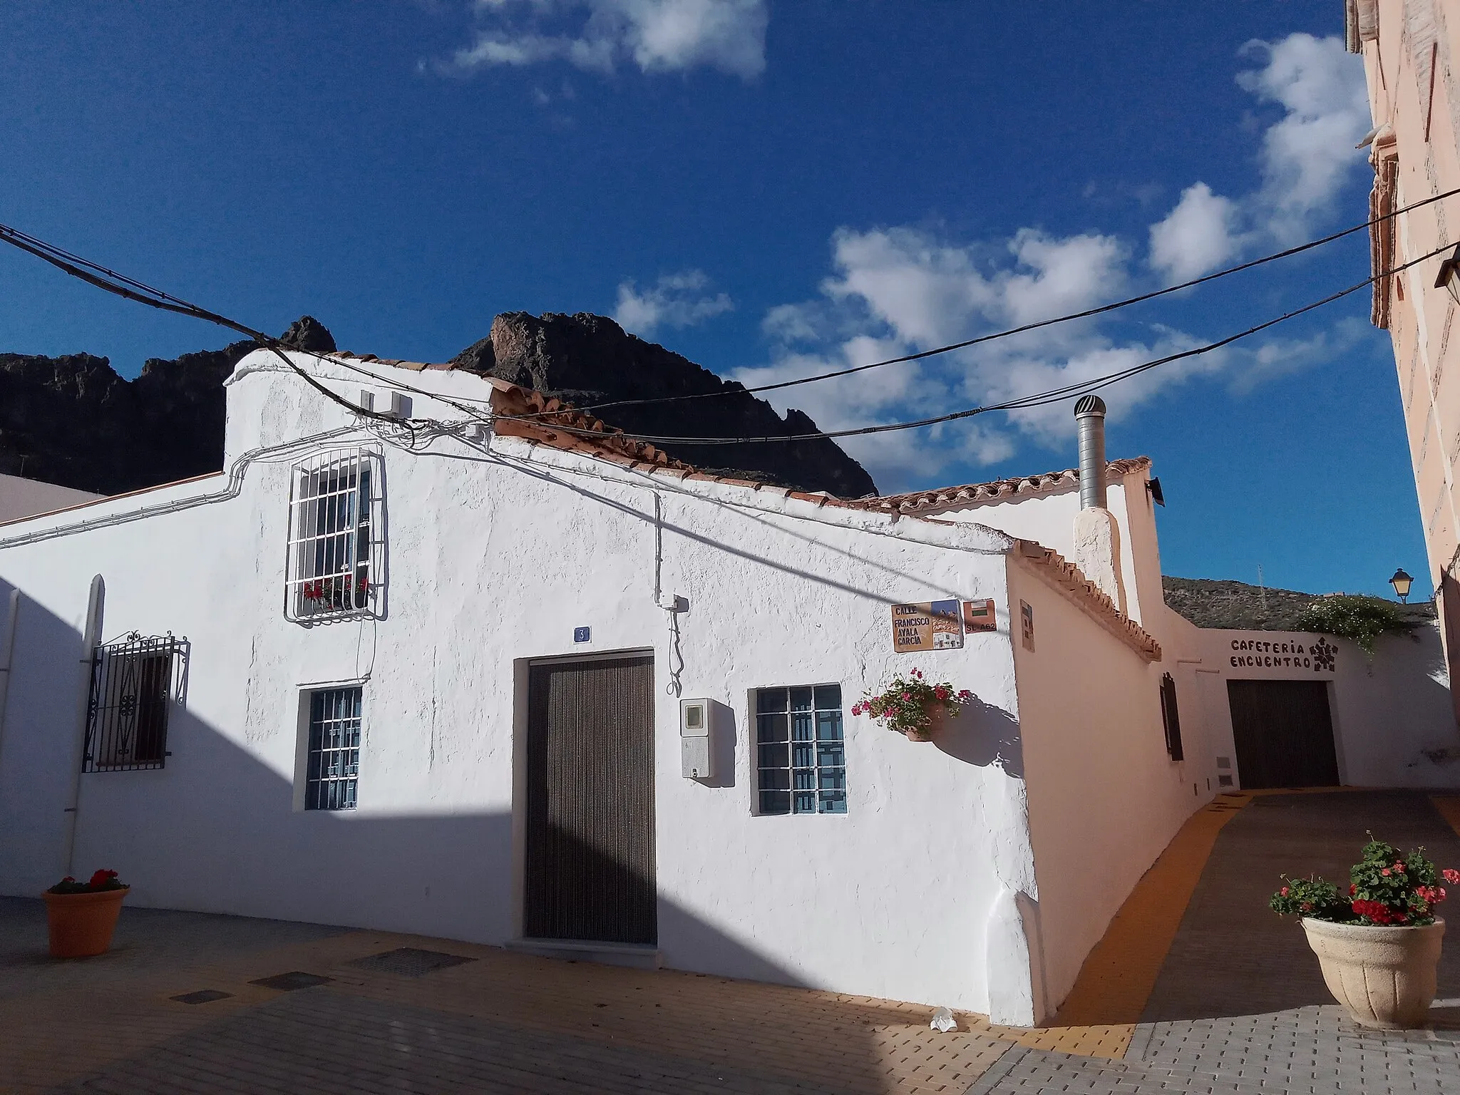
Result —
[[1346, 877], [1367, 831], [1460, 864], [1460, 837], [1410, 791], [1254, 797], [1222, 828], [1123, 1060], [1007, 1050], [972, 1092], [1460, 1092], [1460, 945], [1424, 1031], [1355, 1026], [1302, 930], [1266, 908], [1278, 876]]

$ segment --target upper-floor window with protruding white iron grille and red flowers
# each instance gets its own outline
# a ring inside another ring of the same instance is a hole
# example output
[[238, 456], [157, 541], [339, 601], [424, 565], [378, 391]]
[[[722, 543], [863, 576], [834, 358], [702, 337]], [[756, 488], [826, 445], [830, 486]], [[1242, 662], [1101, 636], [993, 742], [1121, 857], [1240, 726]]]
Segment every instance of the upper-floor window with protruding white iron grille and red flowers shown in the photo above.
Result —
[[378, 457], [324, 453], [293, 469], [285, 615], [295, 620], [369, 613], [380, 599]]

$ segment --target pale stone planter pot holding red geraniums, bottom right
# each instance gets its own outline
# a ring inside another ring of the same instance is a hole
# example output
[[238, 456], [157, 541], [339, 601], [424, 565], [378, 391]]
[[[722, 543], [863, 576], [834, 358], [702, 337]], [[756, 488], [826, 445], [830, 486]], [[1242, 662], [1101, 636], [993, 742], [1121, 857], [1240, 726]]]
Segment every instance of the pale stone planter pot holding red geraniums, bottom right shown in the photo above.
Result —
[[1435, 999], [1445, 921], [1422, 927], [1304, 920], [1323, 981], [1353, 1022], [1381, 1031], [1421, 1026]]

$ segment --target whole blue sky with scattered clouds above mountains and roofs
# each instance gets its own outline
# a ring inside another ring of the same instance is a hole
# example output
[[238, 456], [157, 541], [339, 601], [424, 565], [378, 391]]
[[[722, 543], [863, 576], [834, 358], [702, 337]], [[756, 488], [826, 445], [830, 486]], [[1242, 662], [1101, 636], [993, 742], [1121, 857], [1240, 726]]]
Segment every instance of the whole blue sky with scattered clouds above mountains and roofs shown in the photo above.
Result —
[[[780, 380], [1361, 222], [1340, 0], [359, 0], [0, 9], [0, 220], [247, 323], [444, 359], [597, 311]], [[823, 428], [1123, 368], [1368, 276], [1365, 235], [1104, 321], [806, 385]], [[1107, 390], [1168, 574], [1426, 593], [1368, 293]], [[0, 254], [0, 349], [228, 336]], [[885, 491], [1073, 463], [1070, 407], [850, 444]], [[1421, 588], [1422, 587], [1422, 588]]]

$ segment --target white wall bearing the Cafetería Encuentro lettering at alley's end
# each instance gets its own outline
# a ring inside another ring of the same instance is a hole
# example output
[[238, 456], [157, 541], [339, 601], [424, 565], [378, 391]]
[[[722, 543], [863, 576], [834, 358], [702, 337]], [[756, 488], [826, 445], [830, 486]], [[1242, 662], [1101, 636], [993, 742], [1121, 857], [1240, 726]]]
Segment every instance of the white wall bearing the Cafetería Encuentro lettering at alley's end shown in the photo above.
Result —
[[[1190, 664], [1204, 677], [1199, 699], [1202, 717], [1212, 727], [1213, 785], [1221, 775], [1235, 775], [1234, 783], [1241, 784], [1228, 680], [1327, 682], [1339, 778], [1346, 785], [1460, 784], [1460, 731], [1437, 625], [1386, 635], [1372, 657], [1348, 639], [1327, 637], [1339, 647], [1330, 672], [1313, 666], [1311, 657], [1294, 654], [1307, 651], [1318, 635], [1197, 628], [1174, 612], [1171, 616]], [[1218, 769], [1216, 756], [1229, 758], [1231, 769]]]

